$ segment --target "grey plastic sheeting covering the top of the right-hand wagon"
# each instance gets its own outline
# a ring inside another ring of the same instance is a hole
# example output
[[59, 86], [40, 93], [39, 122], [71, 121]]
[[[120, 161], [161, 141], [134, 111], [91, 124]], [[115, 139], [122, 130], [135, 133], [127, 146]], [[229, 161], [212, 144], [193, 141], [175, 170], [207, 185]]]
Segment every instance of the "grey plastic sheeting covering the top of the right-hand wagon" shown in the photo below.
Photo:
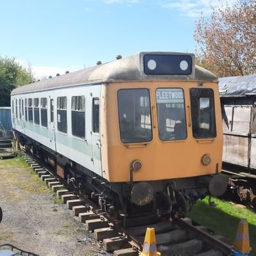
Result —
[[256, 75], [219, 78], [220, 97], [256, 95]]

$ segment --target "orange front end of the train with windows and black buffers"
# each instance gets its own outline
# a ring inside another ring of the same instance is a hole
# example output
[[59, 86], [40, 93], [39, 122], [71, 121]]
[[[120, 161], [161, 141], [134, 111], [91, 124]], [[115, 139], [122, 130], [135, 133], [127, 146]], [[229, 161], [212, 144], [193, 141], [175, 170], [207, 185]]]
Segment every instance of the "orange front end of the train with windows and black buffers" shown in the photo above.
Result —
[[102, 93], [102, 173], [125, 213], [184, 213], [207, 193], [224, 193], [217, 81], [152, 76], [109, 83]]

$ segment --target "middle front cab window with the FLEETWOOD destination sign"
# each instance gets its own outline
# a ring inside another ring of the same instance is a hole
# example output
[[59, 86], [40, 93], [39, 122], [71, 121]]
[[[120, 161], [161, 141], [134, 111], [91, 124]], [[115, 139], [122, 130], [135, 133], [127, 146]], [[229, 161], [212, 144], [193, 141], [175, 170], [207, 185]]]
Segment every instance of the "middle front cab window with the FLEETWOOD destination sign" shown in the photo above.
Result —
[[180, 88], [156, 90], [159, 139], [184, 140], [187, 137], [184, 92]]

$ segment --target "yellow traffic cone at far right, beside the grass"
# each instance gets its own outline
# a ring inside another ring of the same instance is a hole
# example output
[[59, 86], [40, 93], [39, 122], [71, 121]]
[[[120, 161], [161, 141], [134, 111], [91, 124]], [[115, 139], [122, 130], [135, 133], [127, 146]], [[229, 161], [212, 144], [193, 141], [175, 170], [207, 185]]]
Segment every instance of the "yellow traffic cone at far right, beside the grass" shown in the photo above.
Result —
[[239, 221], [233, 247], [236, 252], [243, 254], [249, 253], [252, 250], [250, 247], [249, 229], [246, 219], [241, 219], [241, 221]]

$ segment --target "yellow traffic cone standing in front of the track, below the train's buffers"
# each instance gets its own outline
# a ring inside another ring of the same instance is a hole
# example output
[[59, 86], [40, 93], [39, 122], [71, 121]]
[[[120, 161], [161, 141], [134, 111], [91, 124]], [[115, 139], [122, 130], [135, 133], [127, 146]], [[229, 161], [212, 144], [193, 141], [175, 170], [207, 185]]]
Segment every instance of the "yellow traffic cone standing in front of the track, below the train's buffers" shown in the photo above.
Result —
[[161, 256], [161, 253], [156, 249], [156, 233], [155, 228], [147, 228], [143, 250], [140, 256]]

